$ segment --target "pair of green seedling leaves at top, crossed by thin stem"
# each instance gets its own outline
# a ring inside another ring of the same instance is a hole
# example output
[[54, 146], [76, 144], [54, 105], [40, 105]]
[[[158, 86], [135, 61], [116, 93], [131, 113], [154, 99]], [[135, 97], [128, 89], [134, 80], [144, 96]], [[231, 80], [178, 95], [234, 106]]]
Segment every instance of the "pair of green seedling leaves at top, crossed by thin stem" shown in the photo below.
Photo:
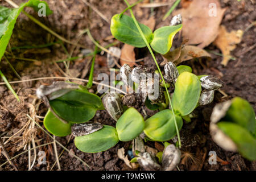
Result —
[[[139, 23], [139, 27], [152, 49], [156, 52], [165, 54], [171, 46], [172, 40], [176, 33], [182, 28], [182, 24], [177, 26], [166, 26], [155, 30], [154, 34], [144, 24]], [[116, 14], [112, 17], [110, 30], [112, 35], [123, 43], [130, 44], [135, 47], [146, 47], [134, 20], [127, 15]]]

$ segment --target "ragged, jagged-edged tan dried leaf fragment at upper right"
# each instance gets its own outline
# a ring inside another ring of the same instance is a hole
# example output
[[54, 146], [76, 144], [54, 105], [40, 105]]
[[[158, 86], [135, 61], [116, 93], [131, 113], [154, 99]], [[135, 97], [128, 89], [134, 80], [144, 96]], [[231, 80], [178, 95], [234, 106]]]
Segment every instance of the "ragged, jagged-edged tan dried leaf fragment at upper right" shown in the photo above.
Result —
[[220, 26], [217, 39], [214, 40], [213, 44], [221, 49], [224, 56], [221, 64], [225, 66], [228, 64], [230, 57], [232, 57], [230, 51], [233, 51], [236, 48], [236, 44], [241, 42], [242, 35], [242, 30], [227, 32], [224, 26]]

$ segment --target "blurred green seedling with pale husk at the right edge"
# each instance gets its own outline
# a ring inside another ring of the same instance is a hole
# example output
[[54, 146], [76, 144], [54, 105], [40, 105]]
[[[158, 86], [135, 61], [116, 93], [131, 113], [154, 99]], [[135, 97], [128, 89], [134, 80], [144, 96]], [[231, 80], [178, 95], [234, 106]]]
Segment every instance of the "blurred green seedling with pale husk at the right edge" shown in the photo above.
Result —
[[224, 150], [256, 160], [256, 119], [246, 100], [235, 97], [217, 104], [210, 117], [210, 134]]

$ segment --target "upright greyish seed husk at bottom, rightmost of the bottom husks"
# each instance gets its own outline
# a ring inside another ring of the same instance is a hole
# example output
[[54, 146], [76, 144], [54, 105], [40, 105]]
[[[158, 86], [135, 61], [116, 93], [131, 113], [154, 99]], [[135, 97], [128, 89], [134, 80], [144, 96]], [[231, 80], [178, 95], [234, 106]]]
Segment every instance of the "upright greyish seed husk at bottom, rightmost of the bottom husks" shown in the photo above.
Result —
[[162, 156], [162, 170], [172, 171], [180, 162], [181, 152], [174, 144], [168, 145]]

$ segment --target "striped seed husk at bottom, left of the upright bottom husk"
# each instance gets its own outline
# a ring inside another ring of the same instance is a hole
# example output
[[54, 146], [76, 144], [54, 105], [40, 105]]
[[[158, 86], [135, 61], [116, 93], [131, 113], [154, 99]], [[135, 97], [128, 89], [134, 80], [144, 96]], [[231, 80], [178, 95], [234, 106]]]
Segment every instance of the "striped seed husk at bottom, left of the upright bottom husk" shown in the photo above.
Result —
[[138, 155], [137, 162], [146, 171], [156, 171], [160, 169], [160, 165], [157, 163], [155, 156], [152, 156], [148, 152], [141, 152]]

